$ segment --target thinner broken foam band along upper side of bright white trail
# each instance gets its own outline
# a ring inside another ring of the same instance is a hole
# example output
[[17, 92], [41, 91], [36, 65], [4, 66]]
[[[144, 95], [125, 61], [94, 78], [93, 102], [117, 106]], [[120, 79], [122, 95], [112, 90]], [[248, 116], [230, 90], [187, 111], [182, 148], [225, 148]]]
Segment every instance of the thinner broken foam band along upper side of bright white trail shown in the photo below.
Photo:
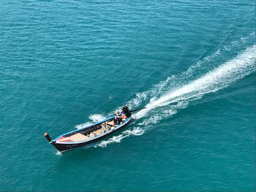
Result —
[[195, 64], [192, 64], [186, 72], [173, 74], [170, 77], [167, 77], [167, 80], [154, 85], [150, 90], [144, 91], [143, 93], [136, 93], [135, 99], [132, 99], [127, 104], [130, 107], [135, 108], [142, 104], [143, 101], [148, 101], [148, 99], [154, 97], [159, 98], [170, 89], [176, 89], [181, 87], [181, 85], [187, 85], [187, 83], [195, 80], [195, 78], [201, 77], [203, 74], [213, 70], [214, 67], [227, 61], [227, 58], [233, 55], [233, 53], [241, 52], [242, 47], [245, 47], [248, 42], [252, 41], [255, 42], [255, 32], [252, 32], [252, 34], [249, 34], [247, 37], [241, 37], [241, 39], [231, 42], [230, 45], [225, 45], [219, 48], [215, 53], [207, 55], [206, 57], [203, 57], [204, 53], [202, 53], [198, 61], [195, 62]]

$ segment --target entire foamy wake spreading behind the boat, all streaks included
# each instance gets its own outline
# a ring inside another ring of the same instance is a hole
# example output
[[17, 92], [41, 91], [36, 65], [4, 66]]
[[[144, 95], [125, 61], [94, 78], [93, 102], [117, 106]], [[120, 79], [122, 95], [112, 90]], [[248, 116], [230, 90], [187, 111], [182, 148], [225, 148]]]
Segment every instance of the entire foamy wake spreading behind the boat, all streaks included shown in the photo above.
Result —
[[[167, 77], [167, 80], [159, 82], [151, 90], [137, 93], [135, 99], [127, 104], [132, 108], [146, 105], [146, 109], [135, 114], [138, 121], [133, 124], [134, 127], [99, 142], [94, 147], [106, 147], [111, 143], [121, 142], [125, 137], [142, 135], [155, 123], [170, 118], [192, 101], [202, 98], [207, 93], [227, 88], [233, 82], [255, 72], [256, 45], [246, 47], [244, 50], [238, 49], [252, 37], [254, 38], [255, 34], [241, 38], [230, 46], [224, 46], [213, 55], [200, 58], [186, 72]], [[234, 50], [236, 53], [233, 53]], [[230, 59], [225, 61], [224, 58], [228, 57]]]

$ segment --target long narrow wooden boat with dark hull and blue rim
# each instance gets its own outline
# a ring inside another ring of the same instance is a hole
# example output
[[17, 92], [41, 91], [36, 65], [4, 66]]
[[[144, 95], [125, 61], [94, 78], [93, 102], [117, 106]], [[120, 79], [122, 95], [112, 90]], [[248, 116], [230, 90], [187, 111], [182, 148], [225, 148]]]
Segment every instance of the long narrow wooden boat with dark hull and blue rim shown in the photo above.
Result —
[[[70, 131], [66, 134], [61, 134], [59, 137], [56, 137], [56, 139], [51, 139], [49, 134], [45, 133], [45, 138], [62, 153], [67, 150], [97, 142], [99, 139], [107, 137], [108, 135], [113, 134], [113, 132], [124, 128], [124, 126], [127, 126], [132, 121], [132, 118], [129, 116], [119, 125], [115, 125], [113, 122], [114, 118], [115, 116], [102, 120], [94, 125]], [[106, 122], [108, 122], [108, 128], [104, 128], [103, 123]]]

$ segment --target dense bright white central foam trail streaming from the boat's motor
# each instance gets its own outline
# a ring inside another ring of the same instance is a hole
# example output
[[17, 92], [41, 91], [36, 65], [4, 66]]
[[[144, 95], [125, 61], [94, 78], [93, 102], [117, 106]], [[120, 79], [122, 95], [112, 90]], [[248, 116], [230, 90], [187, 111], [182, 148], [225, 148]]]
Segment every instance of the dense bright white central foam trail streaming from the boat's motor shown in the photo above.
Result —
[[184, 96], [188, 99], [218, 91], [227, 87], [230, 83], [243, 78], [255, 70], [255, 49], [256, 45], [253, 45], [237, 55], [236, 58], [220, 65], [217, 69], [208, 72], [203, 77], [176, 89], [176, 91], [171, 91], [159, 99], [151, 99], [149, 104], [146, 105], [146, 109], [137, 112], [136, 117], [142, 118], [154, 108], [183, 99]]

